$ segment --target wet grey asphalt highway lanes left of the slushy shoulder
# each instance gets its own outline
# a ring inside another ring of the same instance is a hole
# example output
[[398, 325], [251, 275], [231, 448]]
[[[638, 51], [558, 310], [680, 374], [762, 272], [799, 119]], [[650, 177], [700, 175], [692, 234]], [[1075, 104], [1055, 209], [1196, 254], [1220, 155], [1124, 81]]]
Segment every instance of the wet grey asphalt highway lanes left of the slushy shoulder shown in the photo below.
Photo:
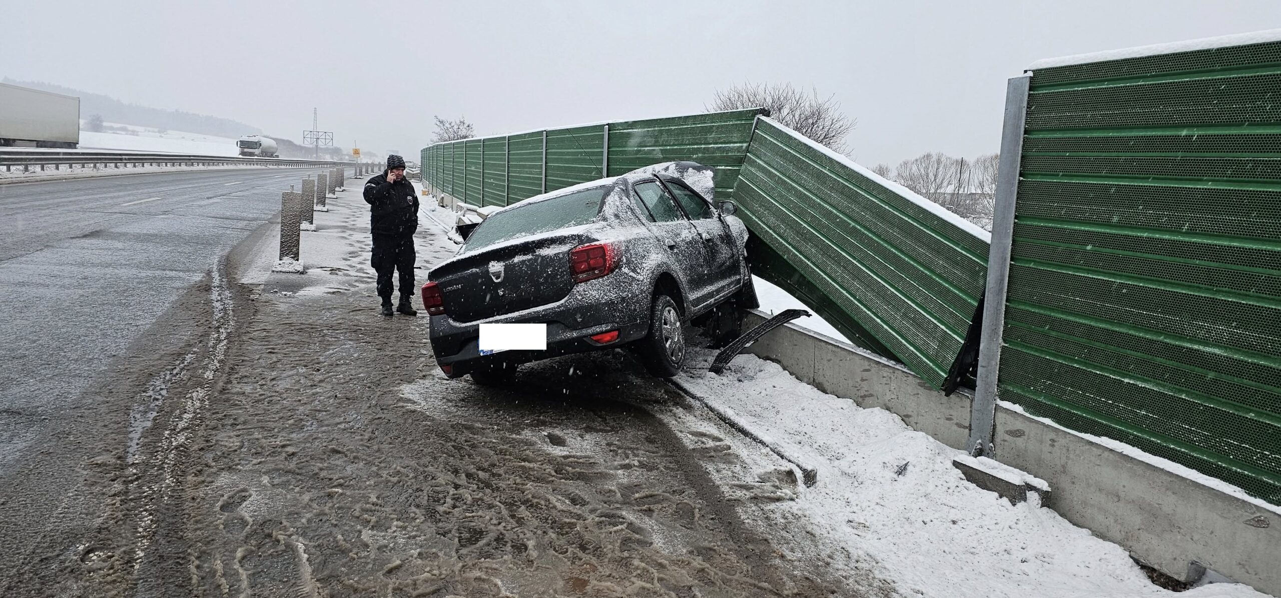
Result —
[[[315, 172], [319, 172], [316, 169]], [[0, 480], [313, 169], [0, 184]]]

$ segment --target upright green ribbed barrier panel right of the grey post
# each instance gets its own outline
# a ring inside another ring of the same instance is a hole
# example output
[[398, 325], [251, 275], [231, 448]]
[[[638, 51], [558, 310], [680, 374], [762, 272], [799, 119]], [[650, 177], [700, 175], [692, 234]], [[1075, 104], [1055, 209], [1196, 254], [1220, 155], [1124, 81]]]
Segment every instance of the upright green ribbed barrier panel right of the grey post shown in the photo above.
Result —
[[1281, 42], [1038, 68], [1000, 398], [1281, 505]]

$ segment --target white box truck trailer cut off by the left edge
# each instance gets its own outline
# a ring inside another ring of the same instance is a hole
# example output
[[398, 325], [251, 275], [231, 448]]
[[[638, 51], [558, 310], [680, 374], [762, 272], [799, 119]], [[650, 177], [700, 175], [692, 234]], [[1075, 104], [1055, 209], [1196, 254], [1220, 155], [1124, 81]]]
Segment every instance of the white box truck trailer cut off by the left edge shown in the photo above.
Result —
[[79, 97], [0, 83], [0, 147], [79, 145]]

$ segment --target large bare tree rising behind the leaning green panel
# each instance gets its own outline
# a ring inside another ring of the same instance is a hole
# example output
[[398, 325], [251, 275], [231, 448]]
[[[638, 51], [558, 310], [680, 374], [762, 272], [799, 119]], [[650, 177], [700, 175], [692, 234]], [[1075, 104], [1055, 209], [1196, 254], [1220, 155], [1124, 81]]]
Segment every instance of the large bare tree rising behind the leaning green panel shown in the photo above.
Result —
[[743, 83], [716, 91], [707, 111], [743, 108], [767, 108], [775, 120], [839, 152], [845, 151], [845, 137], [857, 124], [840, 110], [835, 95], [820, 97], [816, 90], [806, 93], [790, 83]]

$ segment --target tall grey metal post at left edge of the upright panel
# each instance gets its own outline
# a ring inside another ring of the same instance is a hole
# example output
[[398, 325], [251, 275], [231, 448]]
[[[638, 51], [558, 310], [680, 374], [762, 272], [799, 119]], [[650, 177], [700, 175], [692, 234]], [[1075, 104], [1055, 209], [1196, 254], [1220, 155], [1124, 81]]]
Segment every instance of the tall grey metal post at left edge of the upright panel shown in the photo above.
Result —
[[1006, 327], [1006, 291], [1009, 283], [1009, 246], [1015, 236], [1015, 202], [1018, 197], [1018, 163], [1024, 154], [1030, 76], [1013, 77], [1006, 86], [1006, 122], [1000, 131], [1000, 163], [997, 174], [997, 211], [991, 219], [988, 250], [988, 286], [983, 303], [983, 334], [979, 344], [979, 379], [970, 403], [970, 455], [993, 453], [997, 425], [997, 374]]

